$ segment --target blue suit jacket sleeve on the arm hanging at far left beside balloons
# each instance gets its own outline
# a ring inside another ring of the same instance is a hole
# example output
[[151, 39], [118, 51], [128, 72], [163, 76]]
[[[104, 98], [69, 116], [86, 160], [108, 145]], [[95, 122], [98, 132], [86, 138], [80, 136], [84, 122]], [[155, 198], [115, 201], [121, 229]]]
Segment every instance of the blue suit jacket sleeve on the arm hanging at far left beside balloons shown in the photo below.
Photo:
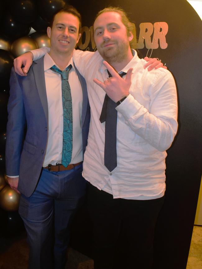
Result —
[[6, 132], [6, 174], [19, 175], [20, 156], [25, 128], [25, 108], [17, 74], [11, 69]]

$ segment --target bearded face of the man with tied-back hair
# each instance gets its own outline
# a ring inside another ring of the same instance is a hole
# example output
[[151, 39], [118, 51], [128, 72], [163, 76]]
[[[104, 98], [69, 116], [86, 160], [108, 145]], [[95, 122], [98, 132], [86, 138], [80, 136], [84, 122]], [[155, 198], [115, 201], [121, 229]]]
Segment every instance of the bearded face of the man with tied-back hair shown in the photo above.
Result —
[[104, 12], [94, 22], [94, 39], [100, 55], [105, 61], [130, 61], [132, 53], [129, 42], [133, 35], [127, 35], [126, 27], [117, 12]]

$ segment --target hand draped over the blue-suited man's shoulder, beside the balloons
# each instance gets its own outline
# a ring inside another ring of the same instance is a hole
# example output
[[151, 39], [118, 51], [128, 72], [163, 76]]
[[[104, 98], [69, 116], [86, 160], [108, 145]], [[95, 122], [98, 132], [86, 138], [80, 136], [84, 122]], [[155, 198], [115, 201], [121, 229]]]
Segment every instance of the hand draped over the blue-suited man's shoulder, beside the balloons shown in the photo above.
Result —
[[[20, 76], [26, 76], [33, 62], [32, 52], [26, 52], [14, 59], [14, 69]], [[22, 67], [24, 65], [24, 67]]]

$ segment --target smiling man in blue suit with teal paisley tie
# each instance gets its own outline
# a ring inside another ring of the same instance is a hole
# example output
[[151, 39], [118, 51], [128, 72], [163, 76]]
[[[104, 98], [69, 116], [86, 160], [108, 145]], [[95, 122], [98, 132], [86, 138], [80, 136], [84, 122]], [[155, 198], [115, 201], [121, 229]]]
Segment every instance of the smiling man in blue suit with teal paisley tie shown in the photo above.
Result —
[[47, 29], [49, 54], [25, 77], [11, 71], [6, 173], [21, 193], [30, 269], [65, 267], [69, 226], [85, 196], [81, 173], [90, 106], [85, 80], [72, 60], [80, 33], [78, 11], [60, 10]]

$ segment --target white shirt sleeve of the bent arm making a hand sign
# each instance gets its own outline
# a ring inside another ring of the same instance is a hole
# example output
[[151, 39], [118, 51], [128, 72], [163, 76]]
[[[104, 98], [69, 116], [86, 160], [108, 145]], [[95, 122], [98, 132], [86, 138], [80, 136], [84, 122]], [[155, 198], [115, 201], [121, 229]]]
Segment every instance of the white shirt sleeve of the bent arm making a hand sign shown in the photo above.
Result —
[[116, 109], [136, 134], [157, 150], [164, 151], [171, 146], [178, 127], [177, 90], [169, 71], [154, 79], [149, 98], [149, 110], [131, 94]]

